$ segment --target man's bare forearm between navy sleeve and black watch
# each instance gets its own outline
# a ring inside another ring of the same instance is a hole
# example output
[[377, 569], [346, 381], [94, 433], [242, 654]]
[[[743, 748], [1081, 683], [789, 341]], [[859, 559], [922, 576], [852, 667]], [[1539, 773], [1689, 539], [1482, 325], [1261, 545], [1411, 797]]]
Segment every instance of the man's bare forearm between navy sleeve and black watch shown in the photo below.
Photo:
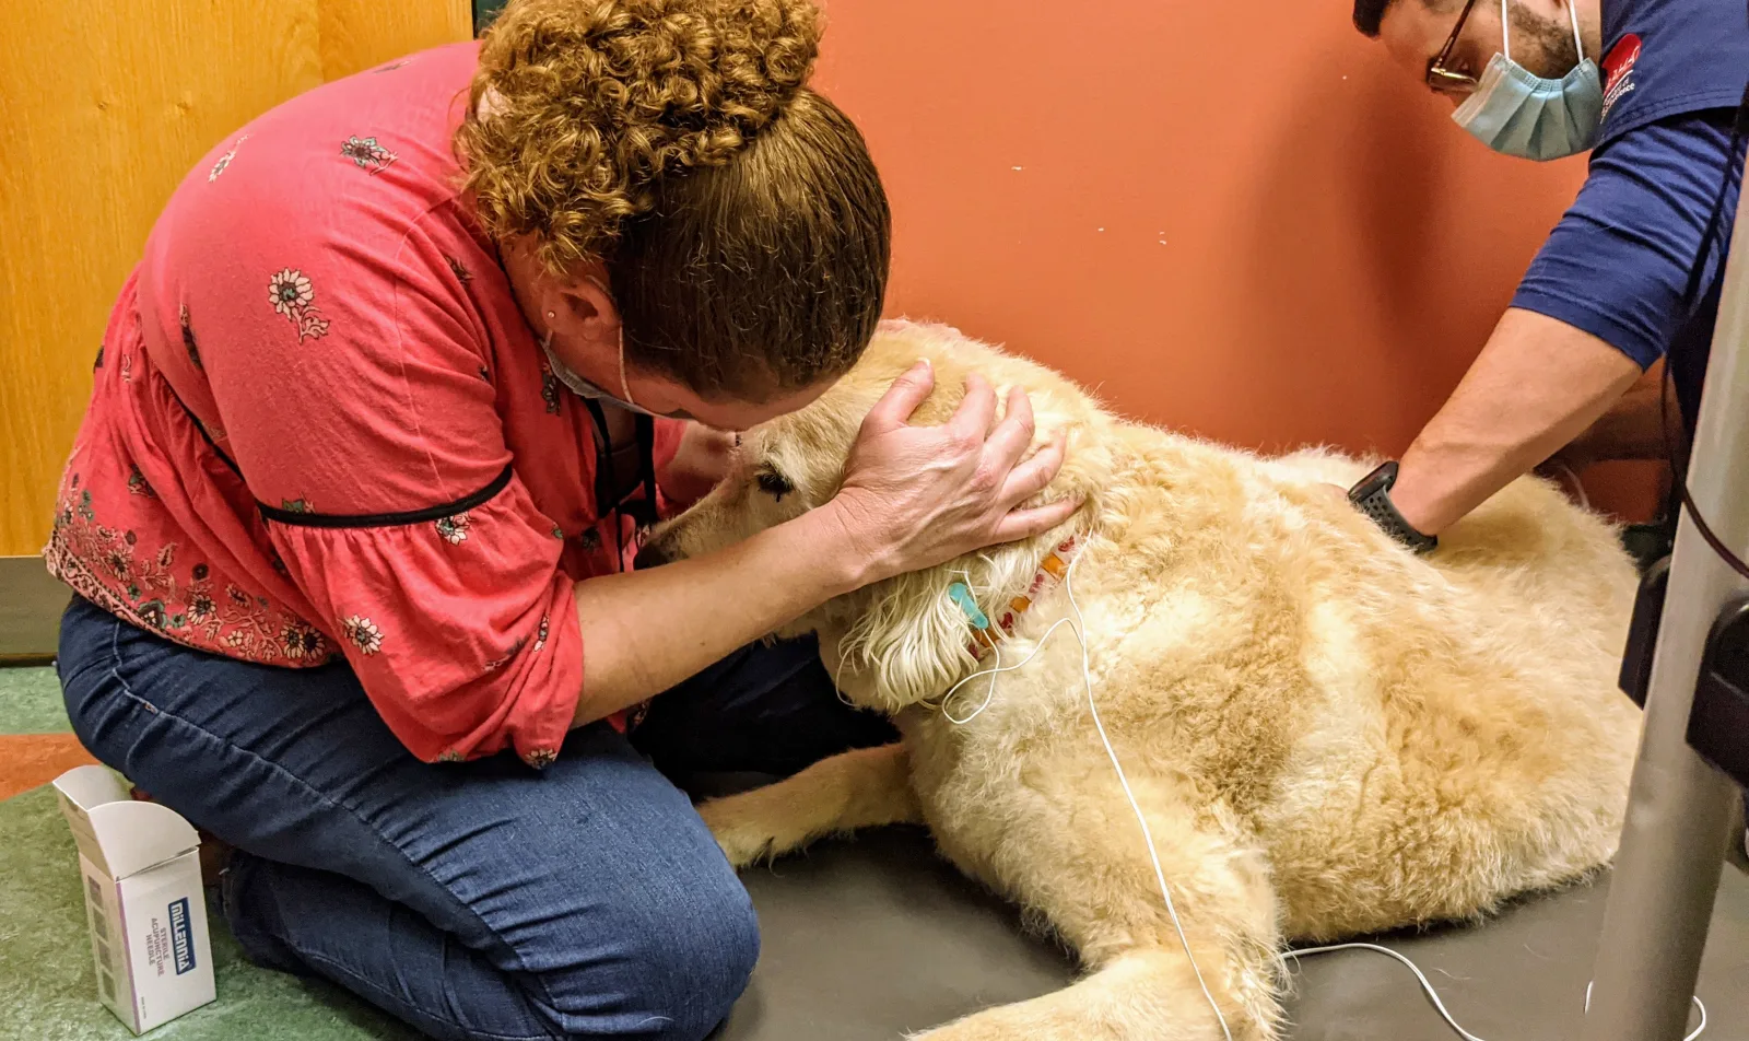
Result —
[[1597, 422], [1641, 376], [1602, 339], [1509, 310], [1408, 451], [1390, 500], [1436, 535]]

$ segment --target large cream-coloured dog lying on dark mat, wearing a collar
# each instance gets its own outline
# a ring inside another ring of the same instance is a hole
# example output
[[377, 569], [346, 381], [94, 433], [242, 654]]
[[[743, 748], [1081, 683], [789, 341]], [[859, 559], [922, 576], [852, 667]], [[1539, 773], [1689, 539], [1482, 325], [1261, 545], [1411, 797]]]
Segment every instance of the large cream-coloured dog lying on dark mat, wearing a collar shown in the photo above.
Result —
[[[1473, 919], [1614, 852], [1639, 710], [1616, 689], [1634, 570], [1607, 523], [1525, 478], [1417, 558], [1333, 495], [1366, 464], [1259, 458], [1102, 411], [1028, 360], [939, 325], [887, 324], [810, 408], [749, 432], [735, 474], [654, 537], [696, 555], [833, 497], [859, 423], [918, 357], [953, 411], [967, 371], [1032, 399], [1039, 443], [1070, 432], [1046, 497], [1063, 528], [826, 604], [841, 691], [904, 737], [701, 807], [736, 864], [855, 828], [918, 821], [962, 871], [1042, 915], [1079, 983], [986, 1010], [930, 1041], [1217, 1041], [1142, 831], [1088, 714], [1065, 628], [965, 726], [934, 702], [976, 665], [946, 597], [986, 612], [1065, 534], [1093, 693], [1182, 919], [1237, 1039], [1275, 1038], [1287, 941]], [[761, 483], [761, 474], [766, 479]], [[782, 485], [794, 492], [773, 495]], [[1020, 661], [1069, 614], [1021, 616]], [[988, 658], [986, 658], [988, 663]], [[986, 679], [960, 688], [964, 717]]]

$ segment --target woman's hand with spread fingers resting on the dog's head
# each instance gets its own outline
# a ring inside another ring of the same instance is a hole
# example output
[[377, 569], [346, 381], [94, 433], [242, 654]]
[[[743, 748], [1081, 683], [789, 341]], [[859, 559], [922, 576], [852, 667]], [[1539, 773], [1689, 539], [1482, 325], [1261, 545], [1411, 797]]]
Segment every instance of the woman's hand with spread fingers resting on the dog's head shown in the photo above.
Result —
[[927, 362], [894, 381], [862, 420], [845, 483], [827, 504], [868, 562], [868, 581], [1039, 535], [1081, 507], [1079, 500], [1021, 507], [1063, 465], [1060, 434], [1027, 458], [1034, 422], [1025, 392], [1009, 392], [997, 422], [995, 390], [972, 374], [953, 418], [939, 427], [913, 427], [911, 413], [934, 387]]

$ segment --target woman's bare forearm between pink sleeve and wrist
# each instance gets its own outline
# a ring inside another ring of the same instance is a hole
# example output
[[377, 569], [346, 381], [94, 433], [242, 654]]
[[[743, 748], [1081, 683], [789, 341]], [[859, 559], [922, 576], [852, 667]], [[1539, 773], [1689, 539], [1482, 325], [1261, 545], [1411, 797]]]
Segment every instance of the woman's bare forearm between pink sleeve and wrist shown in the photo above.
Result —
[[717, 553], [577, 584], [593, 723], [651, 698], [864, 583], [831, 506]]

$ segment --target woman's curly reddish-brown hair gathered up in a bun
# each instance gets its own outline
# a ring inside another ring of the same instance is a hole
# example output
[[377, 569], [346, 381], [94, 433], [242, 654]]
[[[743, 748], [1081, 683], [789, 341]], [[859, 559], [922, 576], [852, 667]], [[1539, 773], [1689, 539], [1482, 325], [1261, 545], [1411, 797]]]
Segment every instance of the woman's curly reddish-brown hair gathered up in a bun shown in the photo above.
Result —
[[511, 0], [456, 131], [486, 231], [556, 275], [605, 261], [628, 364], [764, 399], [873, 336], [890, 213], [855, 126], [803, 84], [808, 0]]

